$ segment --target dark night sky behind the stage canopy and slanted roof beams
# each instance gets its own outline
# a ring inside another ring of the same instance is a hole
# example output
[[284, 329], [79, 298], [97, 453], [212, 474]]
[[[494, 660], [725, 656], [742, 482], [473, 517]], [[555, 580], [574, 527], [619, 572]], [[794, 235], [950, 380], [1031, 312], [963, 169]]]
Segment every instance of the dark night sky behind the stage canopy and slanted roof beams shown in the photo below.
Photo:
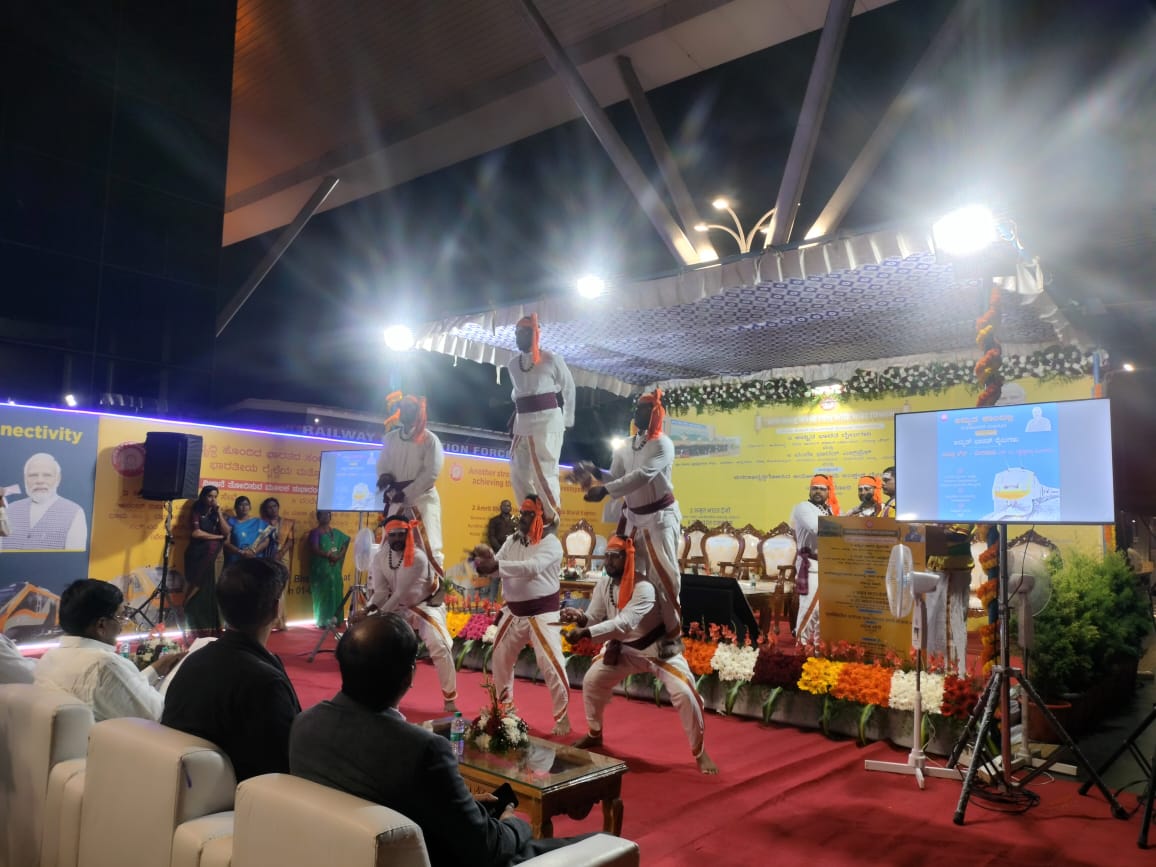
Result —
[[[948, 9], [901, 0], [851, 24], [796, 222], [810, 224]], [[844, 221], [926, 220], [968, 199], [1016, 214], [1054, 262], [1058, 299], [1088, 291], [1095, 227], [1151, 217], [1153, 9], [1139, 0], [986, 2]], [[749, 223], [776, 197], [818, 34], [650, 92], [699, 208], [718, 194]], [[1146, 50], [1147, 49], [1147, 50]], [[1147, 86], [1143, 82], [1147, 81]], [[609, 114], [652, 171], [627, 104]], [[275, 238], [224, 251], [228, 298]], [[726, 238], [717, 246], [728, 252]], [[581, 120], [314, 217], [217, 346], [216, 399], [307, 400], [376, 412], [380, 331], [569, 291], [577, 274], [643, 277], [674, 261]], [[1122, 292], [1138, 289], [1120, 277]], [[503, 427], [491, 368], [415, 354], [402, 373], [431, 417]], [[594, 400], [586, 395], [585, 400]], [[621, 401], [596, 398], [602, 410]]]

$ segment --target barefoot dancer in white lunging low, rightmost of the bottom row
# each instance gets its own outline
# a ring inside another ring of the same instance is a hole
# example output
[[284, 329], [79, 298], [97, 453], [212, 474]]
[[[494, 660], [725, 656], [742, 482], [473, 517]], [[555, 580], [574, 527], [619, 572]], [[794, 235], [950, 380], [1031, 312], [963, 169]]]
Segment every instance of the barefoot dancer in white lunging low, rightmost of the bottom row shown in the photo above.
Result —
[[687, 660], [681, 653], [662, 659], [658, 643], [666, 633], [661, 593], [645, 575], [635, 572], [635, 543], [625, 536], [614, 536], [606, 546], [606, 576], [591, 596], [590, 608], [563, 608], [560, 620], [577, 623], [568, 640], [583, 638], [606, 640], [601, 653], [581, 682], [583, 704], [590, 734], [575, 746], [592, 749], [602, 746], [602, 716], [614, 695], [614, 687], [631, 674], [650, 673], [658, 677], [679, 712], [690, 751], [703, 773], [719, 769], [706, 755], [703, 699], [695, 689]]

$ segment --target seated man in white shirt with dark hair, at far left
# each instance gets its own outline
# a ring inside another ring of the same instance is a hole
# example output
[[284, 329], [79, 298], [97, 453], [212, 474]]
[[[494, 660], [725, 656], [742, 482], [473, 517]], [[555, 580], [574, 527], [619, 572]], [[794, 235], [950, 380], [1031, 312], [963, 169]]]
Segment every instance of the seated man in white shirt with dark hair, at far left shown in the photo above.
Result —
[[127, 618], [120, 590], [109, 581], [73, 581], [60, 595], [60, 646], [36, 666], [36, 683], [71, 692], [92, 709], [97, 722], [118, 717], [160, 720], [161, 680], [184, 653], [161, 657], [144, 670], [117, 655], [117, 638]]

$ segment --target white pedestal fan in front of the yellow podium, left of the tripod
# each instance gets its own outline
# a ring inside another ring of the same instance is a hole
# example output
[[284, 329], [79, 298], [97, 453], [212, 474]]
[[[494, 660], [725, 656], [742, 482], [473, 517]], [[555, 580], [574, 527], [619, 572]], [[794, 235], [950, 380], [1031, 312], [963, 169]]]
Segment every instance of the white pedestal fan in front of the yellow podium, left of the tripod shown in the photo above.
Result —
[[[911, 616], [911, 645], [916, 649], [916, 706], [911, 729], [911, 753], [905, 763], [877, 762], [867, 759], [864, 768], [868, 771], [885, 773], [903, 773], [914, 777], [920, 788], [924, 788], [926, 777], [959, 780], [963, 777], [954, 768], [927, 766], [924, 755], [924, 698], [921, 676], [924, 669], [924, 649], [927, 639], [927, 605], [925, 596], [947, 577], [939, 572], [916, 572], [912, 569], [911, 549], [905, 544], [891, 548], [891, 557], [887, 564], [887, 601], [891, 614], [896, 617]], [[914, 612], [912, 613], [912, 609]]]

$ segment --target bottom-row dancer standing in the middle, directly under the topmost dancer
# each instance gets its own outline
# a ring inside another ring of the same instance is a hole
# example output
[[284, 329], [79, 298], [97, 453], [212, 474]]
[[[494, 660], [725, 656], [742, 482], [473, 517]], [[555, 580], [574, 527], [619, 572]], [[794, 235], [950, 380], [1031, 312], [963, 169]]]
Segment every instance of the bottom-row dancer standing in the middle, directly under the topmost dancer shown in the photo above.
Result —
[[570, 732], [570, 683], [562, 658], [561, 607], [562, 542], [543, 528], [541, 501], [531, 495], [521, 504], [518, 529], [495, 555], [486, 544], [474, 549], [479, 575], [502, 577], [506, 607], [494, 639], [494, 684], [498, 698], [513, 701], [513, 668], [521, 649], [534, 647], [538, 668], [554, 701], [553, 734]]

